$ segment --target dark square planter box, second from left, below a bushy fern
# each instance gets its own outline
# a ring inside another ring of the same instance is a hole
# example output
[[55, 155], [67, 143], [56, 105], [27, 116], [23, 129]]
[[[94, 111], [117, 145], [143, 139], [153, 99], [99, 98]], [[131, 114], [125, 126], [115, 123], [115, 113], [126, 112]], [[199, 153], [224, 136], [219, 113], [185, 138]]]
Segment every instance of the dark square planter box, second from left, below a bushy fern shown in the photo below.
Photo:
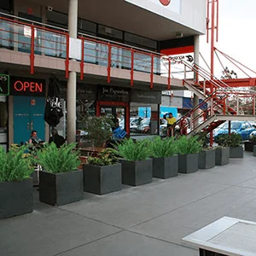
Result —
[[83, 199], [83, 171], [39, 173], [39, 200], [62, 206]]

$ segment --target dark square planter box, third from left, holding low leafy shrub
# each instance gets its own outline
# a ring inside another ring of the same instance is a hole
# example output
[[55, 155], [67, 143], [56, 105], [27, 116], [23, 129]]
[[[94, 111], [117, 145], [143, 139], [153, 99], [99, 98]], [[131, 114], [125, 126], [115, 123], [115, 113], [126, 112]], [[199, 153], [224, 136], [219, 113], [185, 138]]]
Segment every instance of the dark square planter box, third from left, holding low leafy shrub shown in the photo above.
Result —
[[119, 191], [122, 185], [122, 166], [84, 165], [84, 191], [105, 195]]

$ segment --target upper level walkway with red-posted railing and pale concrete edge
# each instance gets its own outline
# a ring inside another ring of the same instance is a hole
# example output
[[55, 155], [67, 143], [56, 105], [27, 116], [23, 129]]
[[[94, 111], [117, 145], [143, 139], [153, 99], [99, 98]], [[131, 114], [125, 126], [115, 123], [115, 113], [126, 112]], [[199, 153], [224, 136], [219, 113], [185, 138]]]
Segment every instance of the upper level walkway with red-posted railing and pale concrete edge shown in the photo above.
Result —
[[108, 84], [123, 80], [131, 86], [149, 84], [150, 89], [183, 89], [181, 79], [171, 72], [172, 61], [163, 57], [85, 34], [74, 40], [65, 29], [0, 13], [0, 68], [21, 65], [31, 74], [54, 70], [66, 78], [75, 71], [89, 82], [102, 78]]

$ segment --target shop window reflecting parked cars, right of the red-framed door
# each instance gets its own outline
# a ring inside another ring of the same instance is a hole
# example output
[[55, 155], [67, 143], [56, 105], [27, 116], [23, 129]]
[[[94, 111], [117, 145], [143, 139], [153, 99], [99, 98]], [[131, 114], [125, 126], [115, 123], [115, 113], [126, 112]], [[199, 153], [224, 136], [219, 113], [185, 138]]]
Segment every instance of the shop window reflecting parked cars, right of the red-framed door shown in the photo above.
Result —
[[158, 117], [157, 104], [131, 102], [131, 136], [157, 135], [159, 133]]

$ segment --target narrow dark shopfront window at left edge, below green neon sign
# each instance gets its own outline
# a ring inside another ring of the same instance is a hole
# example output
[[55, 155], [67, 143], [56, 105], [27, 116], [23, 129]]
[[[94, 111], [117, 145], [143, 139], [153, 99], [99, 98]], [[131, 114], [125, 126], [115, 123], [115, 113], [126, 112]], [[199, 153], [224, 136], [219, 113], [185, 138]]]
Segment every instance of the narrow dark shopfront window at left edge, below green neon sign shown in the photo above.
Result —
[[8, 142], [8, 104], [6, 96], [0, 96], [0, 146], [7, 149]]

